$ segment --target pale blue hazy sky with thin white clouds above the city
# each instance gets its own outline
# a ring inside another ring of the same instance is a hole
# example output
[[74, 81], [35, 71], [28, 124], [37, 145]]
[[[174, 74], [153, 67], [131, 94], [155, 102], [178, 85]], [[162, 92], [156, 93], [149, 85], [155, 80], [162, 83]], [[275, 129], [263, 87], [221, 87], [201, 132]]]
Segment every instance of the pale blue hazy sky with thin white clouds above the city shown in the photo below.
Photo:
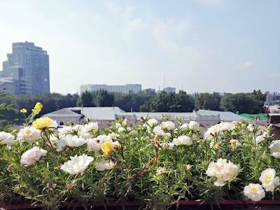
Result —
[[127, 83], [279, 91], [279, 26], [278, 0], [0, 0], [0, 62], [13, 42], [34, 42], [59, 93]]

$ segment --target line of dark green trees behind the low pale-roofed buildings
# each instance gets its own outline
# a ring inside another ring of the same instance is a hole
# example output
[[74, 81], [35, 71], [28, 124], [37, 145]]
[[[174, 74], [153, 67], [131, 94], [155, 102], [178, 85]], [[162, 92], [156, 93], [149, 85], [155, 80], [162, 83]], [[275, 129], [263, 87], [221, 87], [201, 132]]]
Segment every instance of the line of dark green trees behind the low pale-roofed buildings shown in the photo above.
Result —
[[[80, 96], [57, 93], [40, 96], [4, 94], [0, 95], [0, 104], [12, 104], [15, 109], [25, 108], [30, 111], [36, 102], [41, 102], [43, 104], [41, 115], [73, 106], [118, 106], [126, 112], [191, 112], [194, 109], [206, 109], [234, 113], [262, 113], [265, 97], [260, 90], [250, 93], [225, 93], [223, 96], [218, 92], [187, 94], [182, 90], [178, 93], [162, 91], [158, 94], [150, 90], [129, 94], [99, 90], [83, 92]], [[13, 110], [6, 110], [6, 114], [8, 116], [6, 118], [22, 118], [21, 113]]]

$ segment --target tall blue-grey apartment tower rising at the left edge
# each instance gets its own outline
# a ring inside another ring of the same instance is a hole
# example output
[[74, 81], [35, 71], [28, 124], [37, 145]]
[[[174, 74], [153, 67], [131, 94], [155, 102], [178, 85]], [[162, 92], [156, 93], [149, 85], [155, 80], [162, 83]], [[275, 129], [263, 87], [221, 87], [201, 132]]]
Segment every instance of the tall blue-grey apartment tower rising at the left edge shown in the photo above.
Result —
[[[2, 78], [13, 78], [13, 94], [38, 95], [50, 92], [49, 57], [34, 43], [13, 43], [13, 52], [3, 62]], [[2, 84], [3, 86], [3, 84]], [[4, 86], [6, 87], [6, 86]]]

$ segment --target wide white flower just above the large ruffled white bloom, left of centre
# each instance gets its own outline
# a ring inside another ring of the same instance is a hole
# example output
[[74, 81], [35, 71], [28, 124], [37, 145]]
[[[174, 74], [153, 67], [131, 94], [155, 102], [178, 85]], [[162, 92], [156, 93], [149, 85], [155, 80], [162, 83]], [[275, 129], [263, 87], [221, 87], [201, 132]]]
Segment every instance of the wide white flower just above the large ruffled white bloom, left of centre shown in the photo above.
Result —
[[65, 137], [59, 139], [57, 144], [57, 151], [62, 151], [62, 149], [66, 146], [73, 148], [73, 147], [82, 146], [85, 143], [87, 143], [87, 141], [83, 139], [83, 137], [77, 137], [68, 134]]

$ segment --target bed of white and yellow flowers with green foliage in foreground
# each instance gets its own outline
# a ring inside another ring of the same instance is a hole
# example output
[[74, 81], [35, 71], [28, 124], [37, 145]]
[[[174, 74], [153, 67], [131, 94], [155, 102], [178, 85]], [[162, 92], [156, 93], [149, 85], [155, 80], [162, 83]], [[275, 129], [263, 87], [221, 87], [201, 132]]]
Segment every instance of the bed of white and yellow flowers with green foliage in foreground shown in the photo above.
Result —
[[[0, 197], [6, 204], [58, 209], [65, 204], [137, 202], [147, 209], [223, 200], [278, 204], [280, 141], [271, 127], [221, 123], [203, 135], [198, 123], [143, 118], [99, 129], [57, 129], [36, 104], [21, 130], [0, 132]], [[22, 111], [25, 113], [25, 110]], [[189, 200], [189, 201], [188, 201]], [[126, 203], [129, 204], [129, 203]], [[12, 207], [12, 206], [9, 206]]]

